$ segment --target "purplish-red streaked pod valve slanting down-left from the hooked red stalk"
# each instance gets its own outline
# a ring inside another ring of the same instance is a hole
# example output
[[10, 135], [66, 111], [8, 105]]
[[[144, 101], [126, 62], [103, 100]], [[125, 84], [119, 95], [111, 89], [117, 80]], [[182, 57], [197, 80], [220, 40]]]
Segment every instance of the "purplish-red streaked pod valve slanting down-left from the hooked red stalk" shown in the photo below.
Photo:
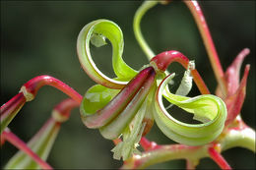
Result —
[[[87, 107], [89, 105], [87, 101], [87, 94], [82, 101], [80, 111], [84, 124], [88, 128], [100, 128], [110, 123], [115, 117], [117, 117], [133, 100], [135, 95], [144, 88], [144, 85], [148, 79], [154, 80], [155, 71], [152, 67], [142, 70], [128, 85], [126, 85], [107, 105], [100, 108], [96, 113], [88, 112]], [[146, 88], [146, 86], [145, 86]], [[147, 89], [149, 90], [149, 89]], [[145, 90], [142, 90], [145, 91]], [[138, 94], [139, 95], [139, 94]], [[140, 98], [140, 97], [139, 97]]]

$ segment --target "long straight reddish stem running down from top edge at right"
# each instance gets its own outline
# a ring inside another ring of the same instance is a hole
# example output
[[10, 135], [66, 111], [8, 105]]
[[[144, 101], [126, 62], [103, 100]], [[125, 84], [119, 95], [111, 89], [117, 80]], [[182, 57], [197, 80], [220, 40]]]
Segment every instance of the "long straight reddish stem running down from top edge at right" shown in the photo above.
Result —
[[184, 0], [184, 3], [189, 8], [190, 12], [192, 13], [192, 15], [196, 21], [197, 27], [200, 30], [201, 36], [202, 36], [204, 44], [206, 46], [206, 50], [208, 52], [208, 56], [209, 56], [210, 62], [212, 64], [218, 84], [221, 85], [221, 89], [222, 89], [224, 95], [226, 95], [226, 86], [225, 86], [225, 81], [224, 81], [224, 70], [221, 65], [217, 50], [215, 48], [215, 44], [212, 39], [210, 30], [207, 26], [204, 14], [203, 14], [197, 1]]

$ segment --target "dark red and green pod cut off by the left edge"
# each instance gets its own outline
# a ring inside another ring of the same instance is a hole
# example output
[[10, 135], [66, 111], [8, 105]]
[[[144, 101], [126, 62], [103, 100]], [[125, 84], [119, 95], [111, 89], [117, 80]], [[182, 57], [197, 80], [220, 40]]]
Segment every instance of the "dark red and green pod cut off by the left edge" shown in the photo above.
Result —
[[1, 114], [1, 133], [13, 120], [16, 114], [20, 111], [26, 102], [26, 98], [22, 92], [15, 95], [7, 103], [3, 104], [0, 109]]

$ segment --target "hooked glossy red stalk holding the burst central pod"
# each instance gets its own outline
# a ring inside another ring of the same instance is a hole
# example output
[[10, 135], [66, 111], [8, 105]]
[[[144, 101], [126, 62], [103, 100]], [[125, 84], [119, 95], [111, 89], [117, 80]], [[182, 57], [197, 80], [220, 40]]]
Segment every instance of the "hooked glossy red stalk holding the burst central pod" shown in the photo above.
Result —
[[[153, 65], [157, 65], [160, 72], [164, 72], [172, 62], [180, 63], [185, 69], [187, 69], [189, 64], [189, 60], [186, 56], [174, 50], [162, 52], [151, 60], [151, 63]], [[196, 69], [191, 70], [191, 75], [193, 76], [194, 82], [198, 86], [200, 92], [202, 94], [210, 94], [207, 85], [204, 83]]]

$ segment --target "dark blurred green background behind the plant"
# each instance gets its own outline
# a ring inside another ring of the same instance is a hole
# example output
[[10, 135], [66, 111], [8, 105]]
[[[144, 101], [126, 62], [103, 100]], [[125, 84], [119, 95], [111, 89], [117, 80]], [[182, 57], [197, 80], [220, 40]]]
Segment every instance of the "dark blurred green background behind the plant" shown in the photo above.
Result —
[[[84, 95], [96, 83], [83, 71], [76, 54], [79, 31], [96, 19], [115, 22], [124, 34], [124, 61], [139, 70], [147, 58], [133, 33], [133, 17], [142, 2], [138, 1], [1, 1], [1, 105], [18, 93], [33, 77], [50, 75], [71, 85]], [[209, 28], [224, 70], [244, 48], [251, 50], [241, 68], [251, 65], [247, 95], [241, 111], [244, 121], [255, 129], [255, 1], [202, 1]], [[181, 2], [158, 5], [142, 21], [142, 31], [156, 54], [178, 50], [196, 61], [196, 67], [215, 92], [217, 82], [198, 28]], [[111, 46], [92, 48], [96, 65], [113, 76]], [[109, 62], [105, 62], [109, 61]], [[181, 78], [183, 69], [171, 65], [171, 71]], [[182, 72], [181, 72], [182, 71]], [[173, 87], [174, 88], [174, 87]], [[198, 95], [194, 86], [189, 94]], [[9, 128], [25, 142], [49, 118], [51, 109], [67, 96], [55, 88], [42, 87], [32, 102], [26, 104]], [[174, 112], [174, 111], [173, 111]], [[173, 143], [155, 125], [148, 135], [152, 141]], [[87, 129], [79, 114], [72, 111], [70, 120], [62, 125], [48, 157], [55, 168], [118, 168], [122, 162], [112, 159], [113, 143], [104, 140], [97, 130]], [[17, 151], [8, 142], [1, 148], [1, 166]], [[233, 168], [255, 168], [255, 154], [244, 148], [224, 151]], [[168, 161], [150, 168], [185, 168], [184, 160]], [[211, 159], [201, 160], [199, 169], [219, 168]]]

